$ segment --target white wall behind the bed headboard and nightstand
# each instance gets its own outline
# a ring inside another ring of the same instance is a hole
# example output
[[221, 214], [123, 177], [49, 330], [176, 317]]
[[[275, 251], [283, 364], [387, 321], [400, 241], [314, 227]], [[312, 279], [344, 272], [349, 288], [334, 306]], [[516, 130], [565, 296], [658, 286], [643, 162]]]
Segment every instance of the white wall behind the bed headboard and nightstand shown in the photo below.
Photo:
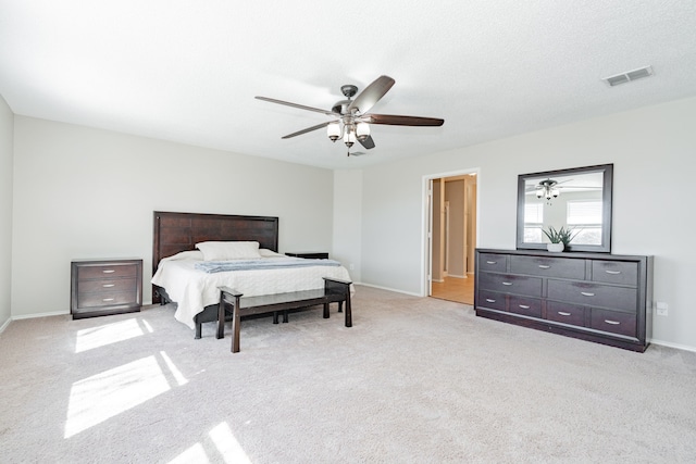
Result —
[[14, 143], [14, 317], [70, 310], [72, 259], [142, 258], [151, 301], [153, 211], [278, 216], [279, 251], [332, 247], [328, 170], [24, 116]]

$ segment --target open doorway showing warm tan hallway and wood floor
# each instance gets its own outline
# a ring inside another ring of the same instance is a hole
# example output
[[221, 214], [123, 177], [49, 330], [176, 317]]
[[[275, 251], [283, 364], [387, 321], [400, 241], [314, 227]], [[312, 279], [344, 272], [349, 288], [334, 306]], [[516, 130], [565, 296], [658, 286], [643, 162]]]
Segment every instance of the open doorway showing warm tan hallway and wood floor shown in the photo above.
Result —
[[470, 172], [431, 179], [430, 297], [473, 304], [476, 174]]

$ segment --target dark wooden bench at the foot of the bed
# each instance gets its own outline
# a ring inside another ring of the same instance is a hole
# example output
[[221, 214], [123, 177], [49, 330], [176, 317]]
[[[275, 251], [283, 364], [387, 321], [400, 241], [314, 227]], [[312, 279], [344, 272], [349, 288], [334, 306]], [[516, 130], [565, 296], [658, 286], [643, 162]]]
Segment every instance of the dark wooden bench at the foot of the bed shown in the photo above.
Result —
[[281, 311], [284, 312], [284, 322], [287, 322], [288, 310], [322, 304], [324, 306], [324, 318], [328, 318], [328, 304], [335, 302], [338, 303], [338, 312], [343, 311], [343, 303], [346, 303], [346, 327], [352, 327], [350, 285], [351, 283], [348, 280], [324, 277], [324, 288], [322, 289], [259, 297], [244, 297], [243, 293], [233, 288], [219, 287], [220, 304], [217, 306], [216, 337], [225, 337], [225, 312], [227, 311], [232, 313], [232, 352], [237, 353], [239, 352], [239, 319], [241, 316], [274, 313], [273, 322], [277, 324], [277, 313]]

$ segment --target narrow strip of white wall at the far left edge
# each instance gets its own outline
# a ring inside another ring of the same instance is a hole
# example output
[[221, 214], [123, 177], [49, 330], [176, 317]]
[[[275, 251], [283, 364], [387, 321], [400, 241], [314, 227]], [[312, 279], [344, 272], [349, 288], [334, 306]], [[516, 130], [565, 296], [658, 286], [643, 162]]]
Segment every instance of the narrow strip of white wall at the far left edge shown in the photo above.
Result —
[[0, 96], [0, 329], [10, 322], [14, 114]]

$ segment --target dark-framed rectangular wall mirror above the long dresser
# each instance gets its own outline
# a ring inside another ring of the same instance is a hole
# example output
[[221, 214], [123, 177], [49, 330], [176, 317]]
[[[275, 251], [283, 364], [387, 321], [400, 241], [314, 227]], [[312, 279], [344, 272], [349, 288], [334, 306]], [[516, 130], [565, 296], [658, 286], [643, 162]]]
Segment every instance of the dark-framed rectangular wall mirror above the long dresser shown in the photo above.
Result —
[[611, 251], [613, 164], [518, 177], [518, 249], [546, 249], [549, 226], [575, 236], [567, 251]]

